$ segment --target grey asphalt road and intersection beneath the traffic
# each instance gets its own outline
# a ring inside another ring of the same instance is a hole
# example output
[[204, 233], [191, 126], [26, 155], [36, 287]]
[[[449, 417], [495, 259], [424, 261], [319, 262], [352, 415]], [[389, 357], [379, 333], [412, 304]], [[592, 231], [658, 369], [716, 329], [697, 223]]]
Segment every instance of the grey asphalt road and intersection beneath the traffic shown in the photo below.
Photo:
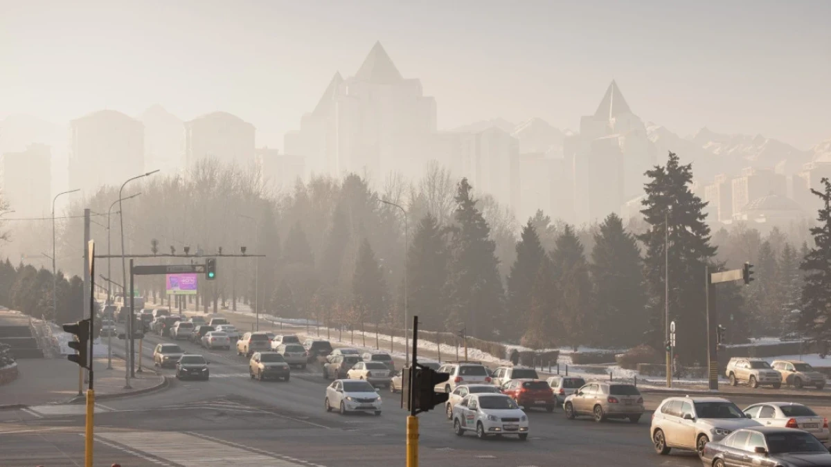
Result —
[[[145, 364], [152, 367], [155, 343], [145, 341]], [[399, 395], [381, 391], [384, 413], [342, 416], [323, 410], [327, 386], [320, 371], [293, 371], [287, 382], [253, 381], [246, 360], [234, 351], [205, 351], [179, 342], [185, 351], [211, 361], [210, 381], [171, 381], [144, 396], [103, 401], [96, 413], [96, 465], [248, 465], [381, 467], [405, 465], [406, 412]], [[123, 351], [119, 342], [118, 350]], [[172, 376], [172, 370], [163, 370]], [[33, 390], [35, 390], [33, 388]], [[647, 395], [652, 409], [665, 396]], [[736, 398], [740, 406], [758, 398]], [[831, 415], [831, 404], [809, 402]], [[0, 464], [4, 466], [83, 465], [82, 406], [29, 407], [0, 411]], [[529, 440], [478, 440], [456, 436], [441, 410], [420, 415], [421, 465], [530, 467], [692, 466], [692, 453], [653, 453], [650, 415], [637, 425], [566, 420], [529, 412]]]

